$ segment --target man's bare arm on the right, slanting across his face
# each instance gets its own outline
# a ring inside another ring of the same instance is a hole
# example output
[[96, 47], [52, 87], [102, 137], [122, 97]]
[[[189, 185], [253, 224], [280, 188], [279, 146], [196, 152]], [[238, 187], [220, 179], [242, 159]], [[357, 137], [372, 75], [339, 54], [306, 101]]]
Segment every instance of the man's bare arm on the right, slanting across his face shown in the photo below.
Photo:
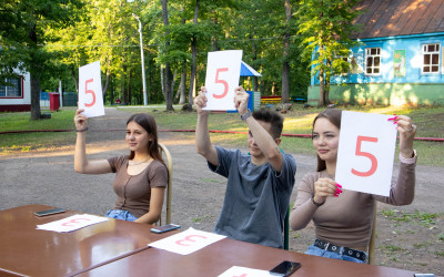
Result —
[[[248, 103], [250, 95], [243, 90], [242, 86], [238, 86], [234, 92], [234, 105], [239, 113], [243, 116], [249, 112]], [[245, 122], [249, 125], [249, 132], [254, 137], [254, 142], [265, 155], [271, 166], [273, 166], [276, 172], [281, 172], [283, 164], [283, 155], [279, 148], [281, 138], [272, 137], [272, 135], [265, 129], [263, 129], [253, 116], [249, 116]]]

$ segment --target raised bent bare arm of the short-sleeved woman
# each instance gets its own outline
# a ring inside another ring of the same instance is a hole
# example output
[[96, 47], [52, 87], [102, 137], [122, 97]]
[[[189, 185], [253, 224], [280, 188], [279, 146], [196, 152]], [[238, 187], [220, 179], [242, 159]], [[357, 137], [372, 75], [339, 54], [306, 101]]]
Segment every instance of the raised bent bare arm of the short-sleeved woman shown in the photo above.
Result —
[[77, 129], [74, 171], [83, 174], [110, 173], [112, 171], [107, 160], [88, 161], [87, 157], [88, 117], [83, 115], [82, 112], [83, 110], [77, 110], [74, 116], [74, 123]]

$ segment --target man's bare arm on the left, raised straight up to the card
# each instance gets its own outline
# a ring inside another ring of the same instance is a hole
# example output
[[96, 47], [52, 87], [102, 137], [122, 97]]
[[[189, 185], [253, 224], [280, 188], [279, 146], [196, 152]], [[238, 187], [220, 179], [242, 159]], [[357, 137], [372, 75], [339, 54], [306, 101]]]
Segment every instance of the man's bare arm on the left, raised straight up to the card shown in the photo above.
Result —
[[212, 165], [218, 166], [218, 151], [210, 140], [208, 130], [209, 111], [202, 109], [206, 105], [206, 89], [202, 88], [199, 96], [194, 99], [195, 110], [198, 111], [198, 124], [195, 126], [195, 148], [199, 154], [206, 158]]

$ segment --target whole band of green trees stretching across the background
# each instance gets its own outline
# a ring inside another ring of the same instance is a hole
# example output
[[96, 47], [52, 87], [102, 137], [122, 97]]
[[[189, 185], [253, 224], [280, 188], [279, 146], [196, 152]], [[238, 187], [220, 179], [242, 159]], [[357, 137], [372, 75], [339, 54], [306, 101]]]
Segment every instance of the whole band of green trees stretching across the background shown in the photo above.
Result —
[[243, 78], [245, 89], [287, 101], [306, 95], [312, 53], [313, 68], [326, 79], [344, 66], [334, 57], [352, 44], [347, 22], [355, 2], [3, 0], [0, 82], [22, 69], [42, 88], [62, 80], [78, 90], [79, 68], [99, 60], [107, 103], [143, 103], [134, 13], [142, 23], [149, 103], [165, 102], [169, 110], [173, 101], [192, 103], [195, 86], [204, 84], [208, 52], [232, 49], [243, 50], [243, 61], [263, 75]]

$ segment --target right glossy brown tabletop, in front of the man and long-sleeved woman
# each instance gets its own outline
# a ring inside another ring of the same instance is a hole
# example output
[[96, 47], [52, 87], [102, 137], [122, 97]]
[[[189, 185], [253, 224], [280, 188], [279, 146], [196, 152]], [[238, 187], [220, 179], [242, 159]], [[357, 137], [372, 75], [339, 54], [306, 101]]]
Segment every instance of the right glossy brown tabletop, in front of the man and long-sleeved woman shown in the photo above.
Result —
[[148, 248], [79, 276], [218, 276], [232, 266], [270, 270], [283, 260], [301, 263], [291, 276], [408, 276], [396, 268], [310, 256], [224, 238], [190, 255]]

